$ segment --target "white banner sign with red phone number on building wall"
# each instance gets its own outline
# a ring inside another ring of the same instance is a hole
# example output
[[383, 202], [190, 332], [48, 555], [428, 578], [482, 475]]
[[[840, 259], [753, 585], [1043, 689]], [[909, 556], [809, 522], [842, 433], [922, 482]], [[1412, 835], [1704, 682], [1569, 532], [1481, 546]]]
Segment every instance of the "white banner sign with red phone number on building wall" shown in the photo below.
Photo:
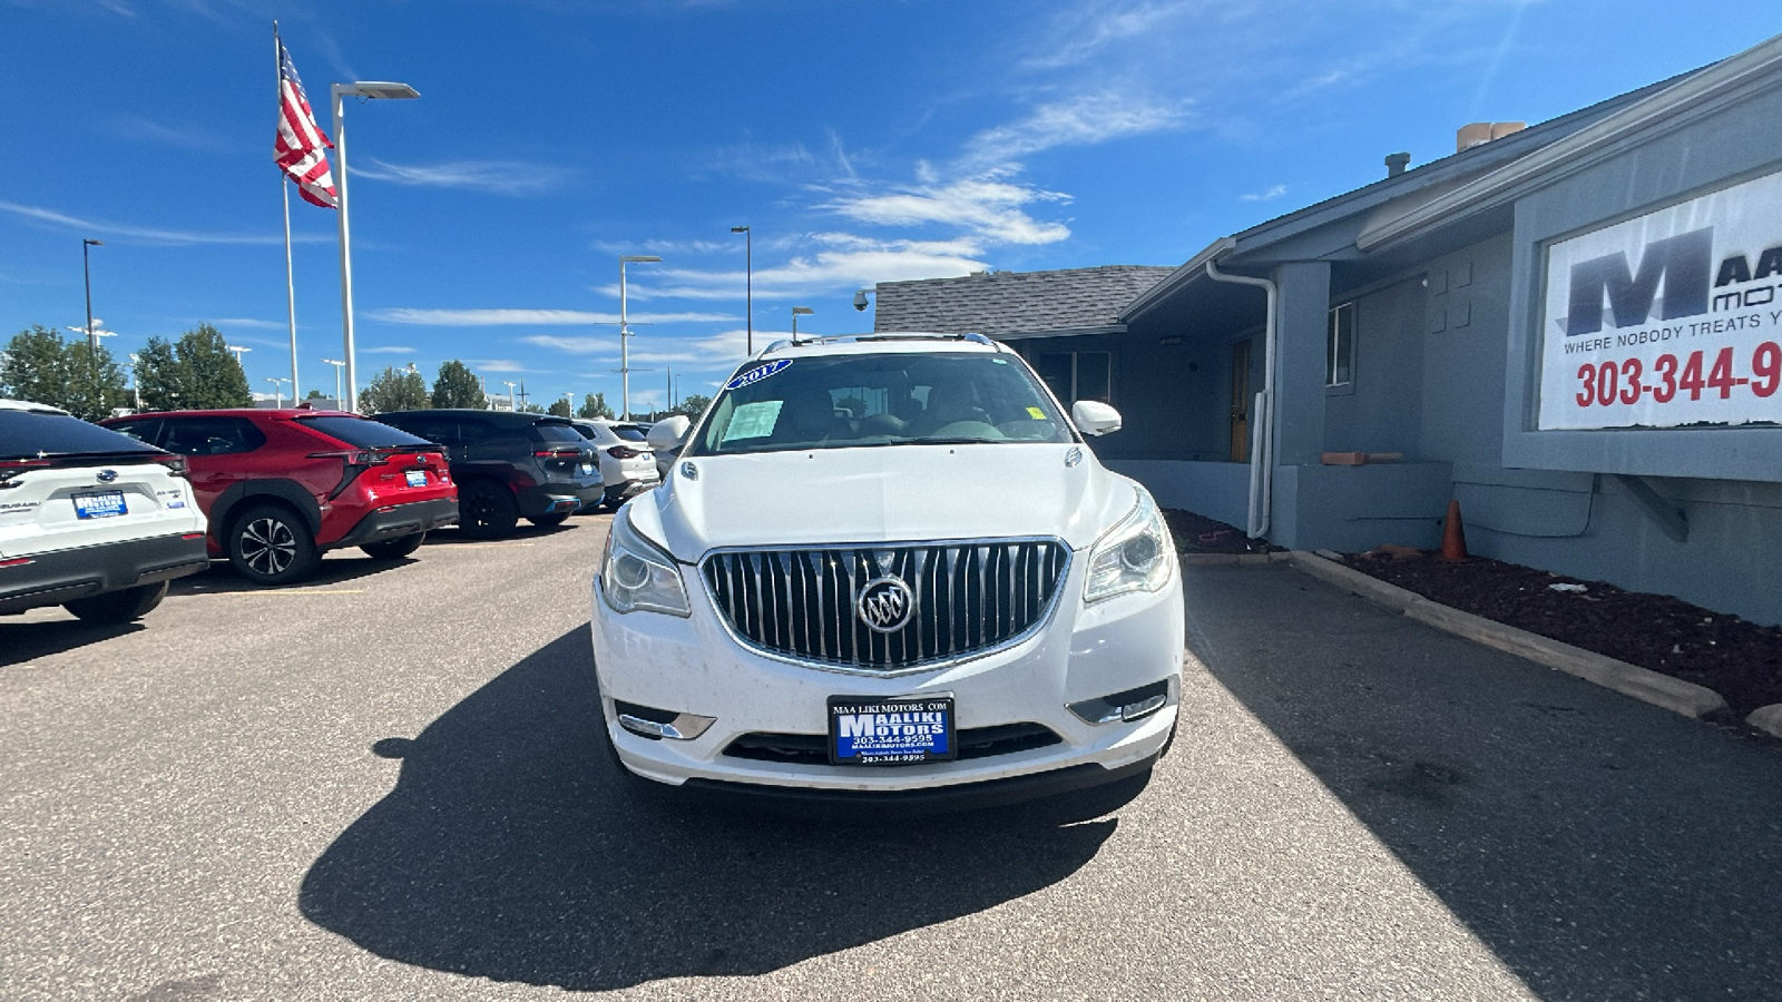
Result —
[[1536, 428], [1782, 423], [1782, 173], [1547, 251]]

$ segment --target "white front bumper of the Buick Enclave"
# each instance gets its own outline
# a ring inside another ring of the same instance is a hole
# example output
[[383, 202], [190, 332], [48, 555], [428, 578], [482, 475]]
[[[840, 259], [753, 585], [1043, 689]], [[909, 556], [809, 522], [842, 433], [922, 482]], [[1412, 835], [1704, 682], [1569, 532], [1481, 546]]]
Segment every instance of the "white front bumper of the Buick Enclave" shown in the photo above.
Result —
[[[754, 790], [791, 799], [830, 793], [896, 799], [957, 788], [959, 806], [985, 806], [985, 797], [1009, 792], [1014, 799], [1042, 797], [1119, 779], [1149, 767], [1176, 724], [1181, 578], [1173, 572], [1158, 592], [1083, 606], [1085, 567], [1087, 560], [1071, 562], [1059, 608], [1021, 644], [898, 678], [843, 674], [741, 647], [725, 631], [693, 569], [683, 569], [693, 606], [688, 619], [615, 613], [595, 583], [592, 633], [602, 722], [625, 768], [672, 786]], [[1158, 683], [1164, 683], [1165, 701], [1142, 719], [1091, 724], [1069, 710], [1069, 704]], [[1014, 743], [1007, 752], [969, 760], [898, 767], [736, 754], [761, 736], [827, 740], [830, 695], [920, 694], [952, 694], [960, 735], [1039, 726], [1057, 740], [1041, 747]], [[713, 722], [691, 740], [652, 740], [618, 726], [615, 701]], [[1044, 779], [1048, 776], [1051, 779]], [[1016, 779], [1023, 783], [1012, 783]]]

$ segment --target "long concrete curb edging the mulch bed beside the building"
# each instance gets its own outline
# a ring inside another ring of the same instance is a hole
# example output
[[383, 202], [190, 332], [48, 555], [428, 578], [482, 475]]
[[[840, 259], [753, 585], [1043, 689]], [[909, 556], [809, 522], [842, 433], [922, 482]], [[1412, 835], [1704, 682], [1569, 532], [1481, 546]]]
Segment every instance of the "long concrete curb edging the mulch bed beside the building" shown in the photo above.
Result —
[[[1672, 676], [1654, 672], [1652, 669], [1641, 669], [1639, 665], [1629, 665], [1627, 661], [1618, 661], [1614, 658], [1597, 654], [1595, 651], [1584, 651], [1582, 647], [1561, 644], [1538, 633], [1529, 633], [1527, 629], [1516, 629], [1515, 626], [1504, 626], [1502, 622], [1433, 603], [1417, 592], [1390, 585], [1379, 578], [1363, 574], [1315, 553], [1294, 551], [1290, 562], [1294, 567], [1313, 578], [1329, 581], [1331, 585], [1354, 592], [1365, 599], [1372, 599], [1394, 612], [1404, 613], [1427, 626], [1435, 626], [1436, 629], [1465, 637], [1467, 640], [1484, 644], [1486, 647], [1497, 647], [1499, 651], [1518, 658], [1527, 658], [1536, 665], [1545, 665], [1549, 669], [1597, 683], [1604, 688], [1613, 688], [1614, 692], [1632, 695], [1634, 699], [1654, 706], [1663, 706], [1673, 713], [1700, 719], [1727, 708], [1727, 701], [1711, 688], [1675, 679]], [[1782, 704], [1766, 706], [1764, 710], [1777, 711], [1771, 715], [1777, 731], [1771, 733], [1782, 736]], [[1759, 710], [1757, 713], [1762, 713], [1764, 710]], [[1757, 713], [1752, 717], [1755, 719]], [[1755, 720], [1752, 724], [1755, 727], [1764, 727], [1764, 724], [1757, 724]]]

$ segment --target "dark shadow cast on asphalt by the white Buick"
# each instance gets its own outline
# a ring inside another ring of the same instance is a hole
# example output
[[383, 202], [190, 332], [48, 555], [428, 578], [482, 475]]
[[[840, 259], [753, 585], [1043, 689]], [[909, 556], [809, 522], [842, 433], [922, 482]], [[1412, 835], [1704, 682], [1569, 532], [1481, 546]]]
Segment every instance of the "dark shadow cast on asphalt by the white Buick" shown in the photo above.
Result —
[[495, 981], [750, 975], [1048, 888], [1117, 824], [1094, 797], [875, 824], [665, 806], [618, 776], [595, 699], [583, 626], [378, 742], [401, 779], [310, 866], [303, 915]]

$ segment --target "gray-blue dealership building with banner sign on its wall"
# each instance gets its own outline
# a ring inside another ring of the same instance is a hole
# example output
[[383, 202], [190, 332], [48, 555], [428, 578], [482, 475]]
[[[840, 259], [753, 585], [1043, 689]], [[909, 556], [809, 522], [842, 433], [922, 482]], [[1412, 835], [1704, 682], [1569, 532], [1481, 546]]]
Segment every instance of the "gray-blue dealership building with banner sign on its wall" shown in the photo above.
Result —
[[[1180, 267], [877, 285], [1124, 428], [1169, 508], [1782, 622], [1782, 37], [1221, 237]], [[1198, 241], [1196, 241], [1198, 242]]]

